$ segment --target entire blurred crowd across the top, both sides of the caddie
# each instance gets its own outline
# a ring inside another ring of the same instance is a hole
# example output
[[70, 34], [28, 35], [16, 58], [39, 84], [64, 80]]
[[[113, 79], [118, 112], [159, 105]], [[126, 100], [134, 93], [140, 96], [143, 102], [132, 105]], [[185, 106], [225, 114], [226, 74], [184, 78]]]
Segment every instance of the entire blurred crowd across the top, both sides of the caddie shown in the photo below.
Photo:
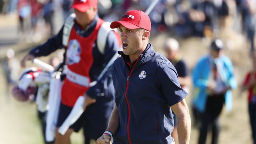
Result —
[[[145, 11], [154, 0], [98, 0], [99, 16], [106, 21], [118, 20], [131, 9]], [[54, 35], [54, 12], [62, 11], [64, 20], [72, 13], [72, 0], [0, 0], [0, 13], [17, 12], [19, 31], [36, 33], [37, 21], [43, 19], [48, 36]], [[151, 35], [162, 32], [175, 37], [191, 36], [213, 39], [232, 19], [232, 30], [243, 34], [254, 51], [256, 25], [255, 0], [159, 0], [149, 17]], [[230, 26], [230, 25], [228, 25]]]

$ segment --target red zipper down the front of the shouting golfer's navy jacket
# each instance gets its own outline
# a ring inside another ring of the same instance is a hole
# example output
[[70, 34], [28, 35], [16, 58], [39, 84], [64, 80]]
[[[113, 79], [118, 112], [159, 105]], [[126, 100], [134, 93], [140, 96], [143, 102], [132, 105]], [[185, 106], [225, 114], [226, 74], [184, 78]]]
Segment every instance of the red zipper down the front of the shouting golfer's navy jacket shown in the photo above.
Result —
[[[135, 62], [135, 64], [133, 65], [132, 67], [132, 70], [134, 69], [135, 65], [137, 64], [137, 62], [139, 61], [139, 58], [140, 56], [138, 57], [137, 61]], [[129, 141], [129, 144], [132, 144], [131, 142], [131, 139], [130, 139], [130, 128], [129, 128], [129, 125], [130, 125], [130, 118], [131, 118], [131, 110], [130, 110], [130, 104], [129, 104], [129, 101], [127, 99], [127, 91], [128, 91], [128, 87], [129, 87], [129, 78], [131, 77], [131, 74], [132, 74], [132, 70], [129, 74], [129, 71], [128, 71], [128, 76], [127, 76], [127, 82], [126, 82], [126, 90], [125, 90], [125, 100], [127, 102], [127, 107], [128, 107], [128, 120], [127, 120], [127, 137], [128, 137], [128, 141]]]

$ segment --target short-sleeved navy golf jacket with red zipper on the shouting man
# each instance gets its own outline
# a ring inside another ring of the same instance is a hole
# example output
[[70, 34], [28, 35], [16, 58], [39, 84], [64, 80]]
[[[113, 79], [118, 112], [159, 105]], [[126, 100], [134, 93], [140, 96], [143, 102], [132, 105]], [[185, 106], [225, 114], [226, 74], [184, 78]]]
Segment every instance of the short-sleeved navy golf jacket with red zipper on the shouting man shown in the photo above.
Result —
[[112, 68], [119, 125], [114, 144], [170, 144], [173, 113], [170, 106], [187, 96], [176, 69], [150, 43], [132, 64], [119, 51]]

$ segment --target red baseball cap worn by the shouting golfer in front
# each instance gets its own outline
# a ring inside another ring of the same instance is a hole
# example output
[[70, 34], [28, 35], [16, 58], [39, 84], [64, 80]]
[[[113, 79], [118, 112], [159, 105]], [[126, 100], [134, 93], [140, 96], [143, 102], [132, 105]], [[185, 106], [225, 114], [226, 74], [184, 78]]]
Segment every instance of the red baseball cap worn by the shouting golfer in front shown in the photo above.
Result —
[[131, 10], [124, 14], [121, 21], [114, 21], [110, 28], [119, 28], [119, 24], [128, 29], [143, 28], [150, 32], [151, 21], [145, 12], [140, 10]]

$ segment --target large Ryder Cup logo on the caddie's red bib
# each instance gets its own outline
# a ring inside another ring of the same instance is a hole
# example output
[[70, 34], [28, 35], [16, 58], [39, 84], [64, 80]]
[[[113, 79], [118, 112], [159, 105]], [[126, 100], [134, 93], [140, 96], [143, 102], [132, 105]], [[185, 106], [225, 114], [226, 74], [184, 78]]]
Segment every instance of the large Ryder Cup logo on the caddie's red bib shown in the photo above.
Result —
[[68, 64], [79, 63], [81, 54], [81, 46], [76, 39], [73, 39], [68, 44], [67, 57]]

